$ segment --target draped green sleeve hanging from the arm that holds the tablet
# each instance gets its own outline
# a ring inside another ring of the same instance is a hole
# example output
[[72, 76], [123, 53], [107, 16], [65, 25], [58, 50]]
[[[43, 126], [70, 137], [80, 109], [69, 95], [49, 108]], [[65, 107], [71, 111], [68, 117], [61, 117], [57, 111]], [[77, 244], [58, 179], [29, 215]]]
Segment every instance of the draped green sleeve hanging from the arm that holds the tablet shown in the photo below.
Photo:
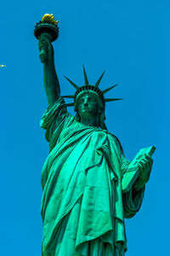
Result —
[[[124, 157], [124, 154], [122, 154], [122, 173], [127, 172], [129, 164], [130, 161]], [[144, 198], [144, 188], [145, 187], [136, 191], [132, 186], [127, 193], [122, 195], [125, 218], [132, 218], [136, 212], [139, 211]]]

